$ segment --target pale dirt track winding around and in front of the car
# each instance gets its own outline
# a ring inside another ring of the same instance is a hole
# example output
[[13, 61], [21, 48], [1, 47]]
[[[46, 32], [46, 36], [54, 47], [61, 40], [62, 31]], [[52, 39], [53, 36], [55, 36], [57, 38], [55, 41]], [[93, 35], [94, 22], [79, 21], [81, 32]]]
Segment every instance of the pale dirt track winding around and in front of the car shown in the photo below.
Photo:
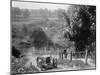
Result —
[[[53, 57], [56, 57], [59, 60], [59, 56], [58, 55], [53, 55]], [[30, 67], [30, 64], [32, 63], [32, 65], [34, 65], [40, 72], [43, 72], [43, 71], [40, 70], [40, 68], [37, 67], [36, 58], [37, 58], [37, 55], [35, 55], [34, 52], [32, 50], [30, 50], [27, 53], [28, 62], [27, 62], [27, 64], [25, 66], [26, 67]], [[76, 60], [76, 59], [73, 59], [73, 60]], [[77, 59], [77, 60], [81, 60], [81, 61], [84, 62], [84, 59]], [[87, 69], [95, 68], [95, 65], [90, 62], [90, 59], [88, 59], [88, 64], [91, 67], [87, 67]], [[74, 64], [73, 64], [72, 67], [69, 67], [69, 65], [58, 64], [57, 68], [47, 70], [47, 72], [48, 71], [63, 71], [63, 70], [78, 70], [78, 69], [81, 69], [81, 68], [79, 66], [78, 67], [75, 66]]]

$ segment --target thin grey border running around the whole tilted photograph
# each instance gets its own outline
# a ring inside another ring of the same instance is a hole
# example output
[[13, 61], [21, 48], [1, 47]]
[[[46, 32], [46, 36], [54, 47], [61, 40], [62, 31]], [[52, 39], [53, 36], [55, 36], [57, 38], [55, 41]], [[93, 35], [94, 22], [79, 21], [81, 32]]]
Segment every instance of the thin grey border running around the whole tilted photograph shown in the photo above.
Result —
[[[58, 4], [58, 5], [79, 5], [79, 6], [80, 5], [87, 5], [87, 6], [95, 6], [96, 7], [96, 19], [97, 19], [97, 6], [96, 5], [72, 4], [72, 3], [56, 3], [56, 2], [42, 2], [42, 1], [28, 1], [28, 0], [27, 1], [26, 0], [25, 1], [24, 0], [10, 0], [10, 73], [11, 73], [11, 52], [12, 52], [12, 18], [11, 18], [11, 15], [12, 15], [12, 13], [11, 13], [12, 1], [16, 1], [16, 2], [31, 2], [31, 3], [44, 3], [44, 4]], [[96, 20], [96, 22], [97, 22], [97, 20]], [[97, 26], [96, 26], [96, 33], [97, 33]], [[97, 36], [97, 34], [96, 34], [96, 36]], [[97, 44], [97, 42], [96, 42], [96, 44]], [[71, 72], [71, 71], [96, 70], [97, 69], [97, 48], [96, 48], [95, 60], [96, 60], [95, 61], [95, 68], [91, 68], [91, 69], [61, 70], [61, 71], [33, 72], [33, 73], [14, 73], [14, 74], [39, 74], [39, 73], [53, 73], [53, 72]]]

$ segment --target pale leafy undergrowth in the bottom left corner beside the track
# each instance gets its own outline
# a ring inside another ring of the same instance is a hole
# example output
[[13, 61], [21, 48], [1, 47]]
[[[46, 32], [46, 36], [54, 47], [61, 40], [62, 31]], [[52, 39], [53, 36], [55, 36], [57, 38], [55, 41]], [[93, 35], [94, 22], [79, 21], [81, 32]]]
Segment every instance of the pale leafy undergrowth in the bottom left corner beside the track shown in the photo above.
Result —
[[12, 57], [11, 61], [11, 74], [25, 74], [25, 73], [33, 73], [33, 72], [39, 72], [39, 70], [34, 66], [31, 65], [30, 67], [25, 67], [27, 60], [22, 59], [16, 59]]

